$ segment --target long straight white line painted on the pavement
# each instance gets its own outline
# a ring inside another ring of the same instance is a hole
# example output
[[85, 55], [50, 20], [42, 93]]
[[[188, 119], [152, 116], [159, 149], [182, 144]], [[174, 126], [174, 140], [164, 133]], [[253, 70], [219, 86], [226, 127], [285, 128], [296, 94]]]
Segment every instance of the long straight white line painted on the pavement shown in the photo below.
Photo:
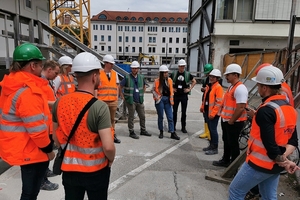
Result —
[[[194, 133], [192, 135], [192, 137], [195, 137], [195, 136], [201, 134], [202, 132], [203, 132], [203, 130], [200, 130], [200, 131]], [[145, 170], [149, 166], [153, 165], [154, 163], [156, 163], [160, 159], [164, 158], [165, 156], [169, 155], [170, 153], [172, 153], [173, 151], [175, 151], [182, 145], [188, 143], [189, 141], [190, 141], [189, 138], [185, 138], [183, 141], [179, 142], [178, 144], [172, 146], [171, 148], [167, 149], [166, 151], [162, 152], [161, 154], [159, 154], [156, 157], [152, 158], [151, 160], [147, 161], [145, 164], [143, 164], [143, 165], [135, 168], [134, 170], [128, 172], [127, 174], [121, 176], [120, 178], [118, 178], [117, 180], [115, 180], [114, 182], [109, 184], [108, 192], [111, 192], [112, 190], [116, 189], [120, 184], [125, 183], [125, 181], [128, 178], [134, 177], [137, 174], [141, 173], [143, 170]]]

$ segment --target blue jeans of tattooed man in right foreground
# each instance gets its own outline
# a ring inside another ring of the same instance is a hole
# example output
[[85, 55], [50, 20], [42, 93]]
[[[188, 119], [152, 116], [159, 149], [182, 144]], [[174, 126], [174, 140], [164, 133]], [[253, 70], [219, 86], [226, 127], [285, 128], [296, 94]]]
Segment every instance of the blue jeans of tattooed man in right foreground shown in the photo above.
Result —
[[276, 200], [278, 174], [267, 174], [253, 169], [244, 163], [229, 186], [229, 200], [244, 200], [247, 192], [258, 185], [261, 200]]

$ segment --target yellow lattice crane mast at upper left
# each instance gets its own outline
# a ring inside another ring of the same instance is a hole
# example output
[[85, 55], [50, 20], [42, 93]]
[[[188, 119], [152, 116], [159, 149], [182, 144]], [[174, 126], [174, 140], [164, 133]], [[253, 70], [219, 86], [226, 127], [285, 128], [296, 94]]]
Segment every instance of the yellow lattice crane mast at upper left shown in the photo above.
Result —
[[50, 0], [50, 26], [91, 45], [90, 0]]

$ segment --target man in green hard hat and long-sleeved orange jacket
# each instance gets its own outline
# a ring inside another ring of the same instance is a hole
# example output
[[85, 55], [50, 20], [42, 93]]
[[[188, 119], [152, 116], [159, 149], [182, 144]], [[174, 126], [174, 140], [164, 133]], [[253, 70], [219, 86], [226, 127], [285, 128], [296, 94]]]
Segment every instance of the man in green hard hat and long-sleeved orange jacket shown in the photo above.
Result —
[[37, 199], [49, 161], [55, 156], [49, 139], [47, 98], [42, 87], [41, 51], [24, 43], [13, 52], [10, 74], [0, 86], [0, 154], [10, 165], [21, 166], [21, 200]]

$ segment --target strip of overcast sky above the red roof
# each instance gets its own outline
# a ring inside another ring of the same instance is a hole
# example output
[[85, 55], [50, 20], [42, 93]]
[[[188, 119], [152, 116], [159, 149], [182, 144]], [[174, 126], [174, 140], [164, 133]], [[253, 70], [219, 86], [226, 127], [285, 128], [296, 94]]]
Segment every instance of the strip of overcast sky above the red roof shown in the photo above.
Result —
[[91, 0], [91, 16], [102, 10], [187, 12], [189, 0]]

